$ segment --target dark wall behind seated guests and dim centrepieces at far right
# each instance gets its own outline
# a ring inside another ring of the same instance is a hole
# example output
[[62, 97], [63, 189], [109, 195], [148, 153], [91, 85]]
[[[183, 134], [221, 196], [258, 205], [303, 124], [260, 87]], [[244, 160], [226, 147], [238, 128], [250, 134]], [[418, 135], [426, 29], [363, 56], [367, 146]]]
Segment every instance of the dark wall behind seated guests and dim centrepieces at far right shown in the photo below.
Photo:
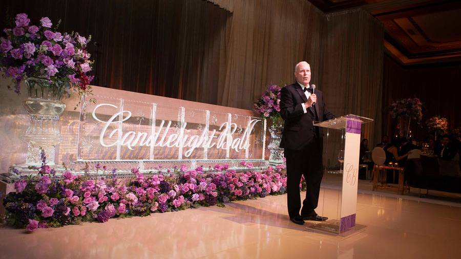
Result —
[[393, 100], [418, 97], [423, 102], [422, 127], [411, 124], [416, 138], [425, 139], [426, 120], [440, 115], [448, 119], [449, 130], [461, 126], [461, 62], [403, 67], [384, 57], [383, 133], [392, 135], [395, 121], [388, 113]]

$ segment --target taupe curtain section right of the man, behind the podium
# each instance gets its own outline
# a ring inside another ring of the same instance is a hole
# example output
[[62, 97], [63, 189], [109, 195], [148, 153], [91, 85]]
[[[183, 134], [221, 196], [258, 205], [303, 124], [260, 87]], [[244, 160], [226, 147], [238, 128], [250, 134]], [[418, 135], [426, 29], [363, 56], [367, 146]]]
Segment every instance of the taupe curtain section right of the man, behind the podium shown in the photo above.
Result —
[[[330, 13], [324, 52], [323, 85], [328, 108], [335, 115], [374, 119], [362, 126], [372, 149], [381, 138], [383, 35], [381, 23], [362, 9]], [[326, 165], [339, 165], [341, 132], [329, 131]], [[329, 153], [328, 153], [329, 152]]]

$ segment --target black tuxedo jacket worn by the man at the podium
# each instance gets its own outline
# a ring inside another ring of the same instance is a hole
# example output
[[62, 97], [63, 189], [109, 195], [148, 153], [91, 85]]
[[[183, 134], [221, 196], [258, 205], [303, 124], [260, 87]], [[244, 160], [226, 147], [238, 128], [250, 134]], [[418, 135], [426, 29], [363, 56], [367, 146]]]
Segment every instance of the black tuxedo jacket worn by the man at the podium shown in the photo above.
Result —
[[[325, 99], [322, 91], [315, 90], [317, 102], [314, 105], [318, 120], [325, 121], [333, 119], [332, 115], [325, 106]], [[312, 125], [315, 113], [312, 107], [308, 107], [304, 113], [301, 103], [307, 101], [306, 95], [299, 83], [287, 85], [281, 90], [280, 115], [285, 121], [283, 127], [282, 140], [280, 147], [301, 150], [315, 139], [319, 140], [320, 147], [323, 143], [323, 133], [320, 127]]]

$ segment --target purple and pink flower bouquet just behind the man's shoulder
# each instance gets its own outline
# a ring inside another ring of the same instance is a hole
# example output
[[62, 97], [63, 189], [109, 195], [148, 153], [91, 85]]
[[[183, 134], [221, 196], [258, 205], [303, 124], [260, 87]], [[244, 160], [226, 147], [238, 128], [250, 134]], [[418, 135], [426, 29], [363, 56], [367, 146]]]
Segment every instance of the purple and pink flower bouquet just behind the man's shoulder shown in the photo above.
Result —
[[254, 111], [265, 118], [270, 118], [273, 125], [280, 120], [280, 90], [276, 84], [267, 85], [266, 92], [255, 102]]

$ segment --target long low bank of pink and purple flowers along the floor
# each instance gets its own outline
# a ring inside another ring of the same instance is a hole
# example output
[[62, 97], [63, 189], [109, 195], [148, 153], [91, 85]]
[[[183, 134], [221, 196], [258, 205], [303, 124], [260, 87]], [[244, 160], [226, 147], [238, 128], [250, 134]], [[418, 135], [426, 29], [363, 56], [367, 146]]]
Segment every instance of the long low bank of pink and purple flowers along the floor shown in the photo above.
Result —
[[[42, 158], [46, 161], [44, 155]], [[43, 163], [36, 176], [15, 182], [16, 191], [5, 197], [6, 221], [31, 232], [84, 221], [106, 222], [110, 218], [222, 205], [285, 192], [282, 165], [258, 172], [251, 170], [251, 163], [241, 164], [248, 171], [228, 170], [227, 164], [216, 164], [213, 172], [204, 172], [200, 166], [187, 170], [183, 165], [169, 176], [146, 177], [133, 168], [135, 178], [123, 184], [116, 178], [115, 169], [109, 178], [94, 180], [66, 171], [59, 179], [54, 177], [53, 168]], [[96, 170], [99, 169], [107, 168], [97, 164]]]

